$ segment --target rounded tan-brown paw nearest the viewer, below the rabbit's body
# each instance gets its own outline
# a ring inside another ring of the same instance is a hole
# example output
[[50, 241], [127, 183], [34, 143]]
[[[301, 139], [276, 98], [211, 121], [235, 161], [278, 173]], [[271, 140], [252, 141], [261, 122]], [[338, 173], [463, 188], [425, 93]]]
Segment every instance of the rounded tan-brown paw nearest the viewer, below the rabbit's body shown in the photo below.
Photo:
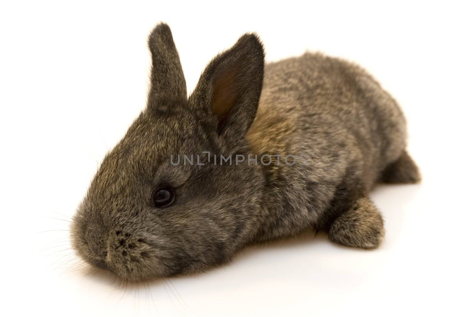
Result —
[[375, 249], [385, 235], [380, 211], [367, 197], [357, 199], [329, 228], [329, 239], [338, 244]]

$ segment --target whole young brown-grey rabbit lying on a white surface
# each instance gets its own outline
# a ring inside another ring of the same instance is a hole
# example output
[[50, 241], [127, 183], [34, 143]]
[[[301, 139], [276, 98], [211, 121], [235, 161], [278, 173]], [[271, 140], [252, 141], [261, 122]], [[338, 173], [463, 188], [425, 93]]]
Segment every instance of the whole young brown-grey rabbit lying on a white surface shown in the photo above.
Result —
[[167, 24], [150, 33], [149, 50], [147, 106], [73, 217], [79, 257], [146, 280], [203, 272], [311, 228], [340, 245], [379, 246], [384, 221], [369, 191], [420, 174], [402, 111], [365, 70], [320, 53], [265, 64], [246, 33], [188, 96]]

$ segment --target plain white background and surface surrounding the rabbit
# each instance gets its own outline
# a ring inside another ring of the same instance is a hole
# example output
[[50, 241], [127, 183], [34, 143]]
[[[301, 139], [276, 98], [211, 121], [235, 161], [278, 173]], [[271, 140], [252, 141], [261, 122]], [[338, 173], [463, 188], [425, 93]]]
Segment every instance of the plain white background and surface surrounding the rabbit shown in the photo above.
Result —
[[[2, 3], [1, 314], [474, 316], [475, 8], [381, 2]], [[407, 115], [423, 174], [372, 193], [386, 220], [381, 248], [303, 234], [146, 287], [83, 269], [68, 220], [145, 106], [146, 41], [159, 21], [172, 29], [189, 92], [246, 31], [258, 32], [268, 60], [320, 50], [377, 77]]]

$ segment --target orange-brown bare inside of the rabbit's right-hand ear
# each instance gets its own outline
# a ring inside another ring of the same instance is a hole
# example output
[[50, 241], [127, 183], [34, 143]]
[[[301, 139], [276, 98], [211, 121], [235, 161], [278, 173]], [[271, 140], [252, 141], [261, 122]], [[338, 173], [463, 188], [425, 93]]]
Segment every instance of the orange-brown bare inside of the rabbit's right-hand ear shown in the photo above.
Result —
[[218, 118], [218, 130], [221, 130], [238, 100], [238, 71], [238, 65], [227, 68], [215, 77], [212, 84], [211, 111]]

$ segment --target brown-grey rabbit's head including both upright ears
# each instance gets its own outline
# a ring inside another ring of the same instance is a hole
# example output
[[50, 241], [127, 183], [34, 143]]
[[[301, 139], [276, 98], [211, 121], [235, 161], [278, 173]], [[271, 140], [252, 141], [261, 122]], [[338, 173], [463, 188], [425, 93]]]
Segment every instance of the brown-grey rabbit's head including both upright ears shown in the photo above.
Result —
[[151, 32], [149, 49], [147, 107], [104, 158], [71, 228], [81, 258], [130, 280], [230, 259], [257, 230], [264, 183], [259, 164], [213, 159], [248, 154], [263, 84], [257, 36], [212, 59], [189, 97], [166, 24]]

